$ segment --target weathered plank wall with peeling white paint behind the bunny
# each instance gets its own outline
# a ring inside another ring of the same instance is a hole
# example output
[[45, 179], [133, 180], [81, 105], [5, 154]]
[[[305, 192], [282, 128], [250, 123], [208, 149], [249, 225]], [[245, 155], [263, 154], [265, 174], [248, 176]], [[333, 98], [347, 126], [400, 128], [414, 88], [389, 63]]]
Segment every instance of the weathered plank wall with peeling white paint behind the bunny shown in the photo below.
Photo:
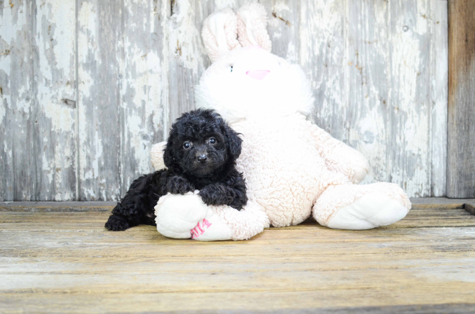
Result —
[[[261, 0], [312, 119], [370, 160], [364, 183], [446, 189], [447, 2]], [[116, 200], [194, 107], [201, 24], [244, 0], [0, 0], [0, 200]]]

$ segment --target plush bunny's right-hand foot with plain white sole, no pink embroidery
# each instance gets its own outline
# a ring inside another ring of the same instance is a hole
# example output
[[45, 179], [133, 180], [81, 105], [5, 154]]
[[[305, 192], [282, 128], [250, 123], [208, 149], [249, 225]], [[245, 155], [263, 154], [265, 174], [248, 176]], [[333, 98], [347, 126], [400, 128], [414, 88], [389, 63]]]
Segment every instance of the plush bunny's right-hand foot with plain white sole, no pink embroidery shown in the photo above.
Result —
[[333, 229], [364, 230], [404, 218], [411, 202], [394, 183], [343, 184], [327, 188], [317, 199], [313, 215]]

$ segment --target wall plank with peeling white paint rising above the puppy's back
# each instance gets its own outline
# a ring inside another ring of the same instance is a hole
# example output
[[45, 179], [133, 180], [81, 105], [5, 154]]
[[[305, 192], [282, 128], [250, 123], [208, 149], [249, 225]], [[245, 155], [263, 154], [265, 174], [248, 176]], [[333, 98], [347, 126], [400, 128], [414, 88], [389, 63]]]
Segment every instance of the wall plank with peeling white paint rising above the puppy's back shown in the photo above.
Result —
[[[163, 94], [165, 93], [166, 70], [168, 60], [160, 57], [161, 49], [150, 47], [140, 37], [147, 38], [157, 27], [163, 27], [168, 21], [160, 20], [156, 25], [156, 16], [151, 13], [147, 19], [142, 15], [134, 15], [134, 6], [125, 1], [129, 10], [125, 24], [124, 61], [120, 64], [123, 73], [121, 82], [121, 112], [123, 115], [121, 132], [121, 183], [122, 193], [140, 174], [153, 171], [150, 164], [150, 148], [154, 143], [154, 130], [163, 126]], [[135, 10], [138, 8], [135, 7]], [[148, 10], [144, 7], [139, 10]], [[138, 26], [141, 24], [142, 26]], [[138, 38], [139, 36], [139, 38]], [[160, 38], [162, 39], [162, 38]], [[162, 39], [163, 40], [163, 39]], [[156, 45], [156, 43], [154, 42]], [[166, 42], [162, 42], [166, 47]], [[167, 68], [168, 69], [168, 68]], [[167, 100], [168, 102], [168, 100]], [[116, 192], [121, 195], [121, 192]]]

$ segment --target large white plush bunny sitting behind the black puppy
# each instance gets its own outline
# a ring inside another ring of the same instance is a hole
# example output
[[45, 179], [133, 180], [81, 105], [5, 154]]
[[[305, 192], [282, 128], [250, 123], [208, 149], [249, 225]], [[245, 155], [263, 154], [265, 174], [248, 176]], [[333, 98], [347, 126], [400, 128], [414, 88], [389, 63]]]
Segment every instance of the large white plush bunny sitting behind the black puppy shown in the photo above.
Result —
[[[196, 88], [196, 107], [217, 110], [243, 135], [237, 169], [248, 204], [238, 211], [206, 206], [197, 191], [167, 194], [155, 207], [158, 232], [241, 240], [311, 215], [323, 226], [353, 230], [404, 218], [411, 202], [398, 185], [358, 185], [369, 169], [363, 154], [305, 120], [314, 102], [309, 83], [298, 65], [270, 53], [266, 16], [262, 5], [247, 3], [237, 14], [227, 8], [206, 18], [202, 38], [213, 64]], [[164, 167], [163, 145], [152, 148], [155, 169]]]

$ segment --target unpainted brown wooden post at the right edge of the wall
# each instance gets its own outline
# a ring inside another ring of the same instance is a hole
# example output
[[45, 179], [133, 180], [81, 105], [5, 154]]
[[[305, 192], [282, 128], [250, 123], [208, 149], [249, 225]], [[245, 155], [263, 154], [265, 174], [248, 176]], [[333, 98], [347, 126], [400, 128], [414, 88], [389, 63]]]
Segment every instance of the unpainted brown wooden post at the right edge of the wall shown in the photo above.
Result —
[[447, 196], [475, 196], [475, 11], [448, 1]]

